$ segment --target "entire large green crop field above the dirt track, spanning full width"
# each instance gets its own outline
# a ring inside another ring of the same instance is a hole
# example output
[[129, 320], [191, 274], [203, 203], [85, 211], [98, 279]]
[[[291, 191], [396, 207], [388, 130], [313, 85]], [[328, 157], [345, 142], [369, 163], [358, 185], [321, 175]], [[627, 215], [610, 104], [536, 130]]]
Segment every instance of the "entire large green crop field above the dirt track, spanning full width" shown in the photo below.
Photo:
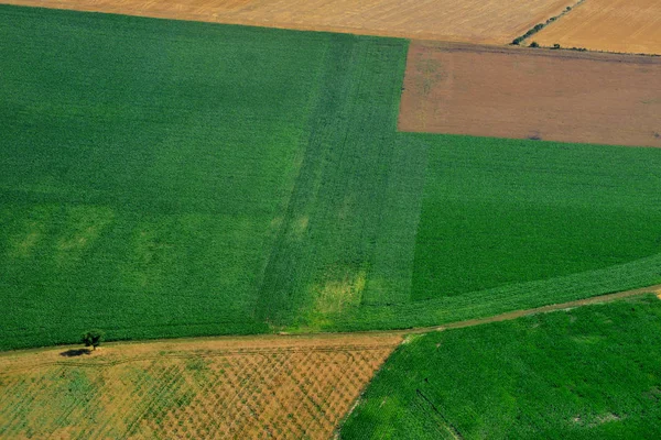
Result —
[[399, 133], [407, 48], [0, 6], [0, 349], [661, 283], [661, 150]]

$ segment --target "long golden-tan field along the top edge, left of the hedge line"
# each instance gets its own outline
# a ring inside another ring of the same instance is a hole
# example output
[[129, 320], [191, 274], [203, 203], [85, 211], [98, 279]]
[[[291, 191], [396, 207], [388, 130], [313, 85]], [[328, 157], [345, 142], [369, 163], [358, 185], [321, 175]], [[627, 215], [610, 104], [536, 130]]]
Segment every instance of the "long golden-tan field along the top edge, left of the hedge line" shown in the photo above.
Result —
[[270, 28], [503, 44], [575, 0], [1, 0]]

